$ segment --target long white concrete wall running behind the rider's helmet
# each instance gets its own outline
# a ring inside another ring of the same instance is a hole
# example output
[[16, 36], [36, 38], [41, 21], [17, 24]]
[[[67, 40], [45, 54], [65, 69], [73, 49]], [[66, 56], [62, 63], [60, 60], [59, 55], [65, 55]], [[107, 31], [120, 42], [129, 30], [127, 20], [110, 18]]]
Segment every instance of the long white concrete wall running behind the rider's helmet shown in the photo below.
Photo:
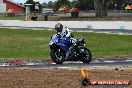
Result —
[[125, 29], [132, 30], [132, 22], [127, 21], [19, 21], [19, 20], [0, 20], [0, 26], [11, 27], [35, 27], [35, 28], [54, 28], [56, 23], [62, 23], [69, 28], [86, 29]]

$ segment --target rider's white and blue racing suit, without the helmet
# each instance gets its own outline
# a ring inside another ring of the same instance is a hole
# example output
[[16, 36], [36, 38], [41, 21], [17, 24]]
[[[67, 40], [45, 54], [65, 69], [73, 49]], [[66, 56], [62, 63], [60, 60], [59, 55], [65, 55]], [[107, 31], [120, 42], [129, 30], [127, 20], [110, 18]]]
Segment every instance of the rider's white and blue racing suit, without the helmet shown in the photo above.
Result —
[[[61, 47], [66, 50], [66, 60], [70, 58], [73, 54], [73, 49], [76, 46], [76, 39], [71, 34], [70, 30], [67, 27], [63, 27], [62, 32], [58, 32], [57, 35], [62, 38], [62, 45]], [[66, 47], [67, 46], [67, 47]]]

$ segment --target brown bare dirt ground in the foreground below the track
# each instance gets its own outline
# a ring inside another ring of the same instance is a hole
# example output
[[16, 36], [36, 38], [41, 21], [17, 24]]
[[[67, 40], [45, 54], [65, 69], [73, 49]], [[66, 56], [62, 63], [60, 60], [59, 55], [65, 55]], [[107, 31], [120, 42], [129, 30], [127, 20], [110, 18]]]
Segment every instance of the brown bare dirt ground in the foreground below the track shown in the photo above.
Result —
[[[91, 79], [132, 80], [132, 67], [89, 68]], [[80, 85], [81, 69], [0, 68], [0, 88], [132, 88]]]

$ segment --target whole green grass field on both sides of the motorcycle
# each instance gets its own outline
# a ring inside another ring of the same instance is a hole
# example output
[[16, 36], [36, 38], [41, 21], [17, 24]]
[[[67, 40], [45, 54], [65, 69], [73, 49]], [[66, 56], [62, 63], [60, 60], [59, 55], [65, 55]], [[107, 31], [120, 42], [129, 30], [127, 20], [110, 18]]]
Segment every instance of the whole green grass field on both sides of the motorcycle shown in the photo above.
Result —
[[[0, 29], [0, 59], [50, 58], [50, 37], [54, 31]], [[132, 54], [131, 35], [73, 32], [77, 38], [84, 37], [86, 47], [93, 57], [122, 56]]]

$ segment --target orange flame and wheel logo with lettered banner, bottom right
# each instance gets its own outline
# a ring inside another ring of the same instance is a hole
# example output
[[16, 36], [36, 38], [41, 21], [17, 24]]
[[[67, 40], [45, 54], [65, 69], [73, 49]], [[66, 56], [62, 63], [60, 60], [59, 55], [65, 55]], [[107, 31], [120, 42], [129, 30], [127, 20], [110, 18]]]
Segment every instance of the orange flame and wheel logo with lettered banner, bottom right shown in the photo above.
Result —
[[110, 80], [92, 80], [90, 79], [90, 74], [88, 71], [82, 68], [81, 70], [81, 80], [80, 84], [82, 86], [87, 85], [130, 85], [131, 80], [124, 80], [124, 79], [110, 79]]

